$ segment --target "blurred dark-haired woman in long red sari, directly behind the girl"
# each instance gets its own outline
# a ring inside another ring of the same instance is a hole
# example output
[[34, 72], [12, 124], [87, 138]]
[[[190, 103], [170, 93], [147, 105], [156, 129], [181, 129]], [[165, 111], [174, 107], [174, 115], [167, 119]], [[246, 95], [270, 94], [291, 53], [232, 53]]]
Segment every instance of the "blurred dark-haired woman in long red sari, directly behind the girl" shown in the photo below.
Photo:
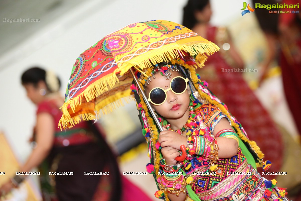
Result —
[[[283, 155], [283, 150], [279, 149], [283, 146], [281, 133], [245, 82], [242, 73], [230, 72], [233, 68], [243, 69], [244, 62], [236, 51], [227, 29], [209, 24], [211, 15], [209, 0], [188, 0], [184, 7], [183, 25], [221, 48], [219, 52], [210, 55], [205, 67], [197, 70], [197, 73], [202, 80], [209, 83], [208, 89], [240, 120], [250, 139], [261, 147], [265, 159], [273, 164], [269, 171], [279, 171]], [[272, 179], [270, 175], [265, 176]]]

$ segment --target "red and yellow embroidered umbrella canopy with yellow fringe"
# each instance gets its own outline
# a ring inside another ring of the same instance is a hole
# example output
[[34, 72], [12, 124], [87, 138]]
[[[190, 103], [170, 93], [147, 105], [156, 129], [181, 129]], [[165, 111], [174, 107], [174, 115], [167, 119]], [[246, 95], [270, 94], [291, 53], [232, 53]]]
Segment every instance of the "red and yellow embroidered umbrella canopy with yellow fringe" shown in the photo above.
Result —
[[142, 71], [159, 62], [188, 59], [188, 54], [195, 57], [194, 67], [201, 67], [206, 54], [217, 50], [214, 43], [166, 20], [130, 24], [108, 34], [76, 59], [59, 126], [65, 129], [81, 119], [96, 119], [100, 111], [106, 114], [133, 99], [132, 69]]

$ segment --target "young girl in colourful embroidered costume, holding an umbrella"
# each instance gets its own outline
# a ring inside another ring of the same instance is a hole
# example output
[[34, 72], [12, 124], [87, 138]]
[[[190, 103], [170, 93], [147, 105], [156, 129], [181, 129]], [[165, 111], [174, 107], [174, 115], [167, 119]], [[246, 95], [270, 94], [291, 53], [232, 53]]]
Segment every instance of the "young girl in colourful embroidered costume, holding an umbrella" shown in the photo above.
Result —
[[[135, 93], [149, 142], [147, 171], [154, 174], [157, 198], [288, 200], [285, 190], [275, 187], [277, 181], [268, 181], [256, 171], [256, 162], [262, 163], [260, 149], [184, 59], [156, 64], [143, 74], [137, 71], [136, 77], [164, 129], [159, 134], [141, 95]], [[176, 158], [181, 145], [184, 159]], [[270, 164], [263, 165], [267, 169]]]

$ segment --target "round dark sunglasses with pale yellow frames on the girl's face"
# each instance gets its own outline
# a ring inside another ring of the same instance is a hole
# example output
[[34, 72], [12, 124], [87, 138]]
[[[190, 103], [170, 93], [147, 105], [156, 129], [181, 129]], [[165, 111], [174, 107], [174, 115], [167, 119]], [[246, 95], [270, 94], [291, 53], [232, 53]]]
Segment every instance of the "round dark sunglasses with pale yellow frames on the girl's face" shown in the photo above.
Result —
[[170, 87], [167, 90], [162, 89], [161, 87], [155, 87], [148, 94], [148, 101], [154, 105], [161, 105], [166, 101], [167, 95], [166, 92], [171, 90], [175, 94], [182, 94], [187, 89], [188, 78], [177, 76], [172, 78], [170, 81]]

